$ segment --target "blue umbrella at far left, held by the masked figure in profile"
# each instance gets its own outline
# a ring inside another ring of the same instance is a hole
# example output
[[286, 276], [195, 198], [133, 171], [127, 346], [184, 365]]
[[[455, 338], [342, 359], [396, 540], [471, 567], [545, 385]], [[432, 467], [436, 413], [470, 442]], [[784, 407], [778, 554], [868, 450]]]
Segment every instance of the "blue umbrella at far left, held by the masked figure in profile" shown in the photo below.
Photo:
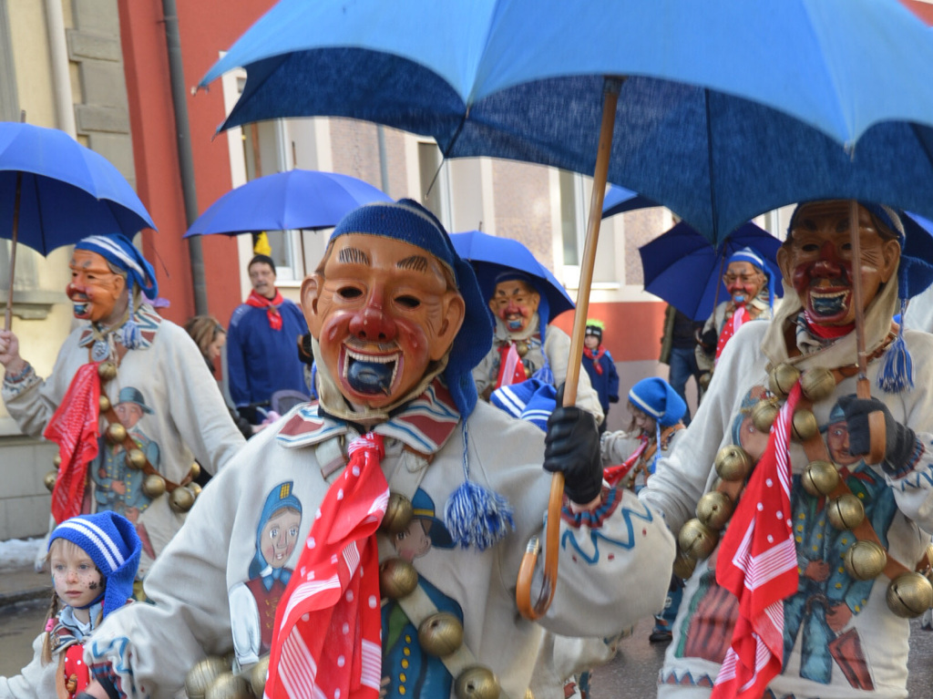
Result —
[[104, 156], [57, 129], [0, 122], [0, 238], [13, 241], [7, 329], [17, 243], [48, 255], [94, 233], [132, 236], [155, 227], [130, 183]]

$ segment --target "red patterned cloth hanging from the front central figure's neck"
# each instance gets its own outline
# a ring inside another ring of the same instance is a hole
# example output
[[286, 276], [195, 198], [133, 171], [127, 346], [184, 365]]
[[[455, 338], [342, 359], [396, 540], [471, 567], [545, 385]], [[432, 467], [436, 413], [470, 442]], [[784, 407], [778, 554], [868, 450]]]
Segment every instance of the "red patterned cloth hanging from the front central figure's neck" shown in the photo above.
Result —
[[350, 442], [275, 613], [267, 699], [377, 699], [382, 622], [376, 530], [389, 501], [383, 438]]

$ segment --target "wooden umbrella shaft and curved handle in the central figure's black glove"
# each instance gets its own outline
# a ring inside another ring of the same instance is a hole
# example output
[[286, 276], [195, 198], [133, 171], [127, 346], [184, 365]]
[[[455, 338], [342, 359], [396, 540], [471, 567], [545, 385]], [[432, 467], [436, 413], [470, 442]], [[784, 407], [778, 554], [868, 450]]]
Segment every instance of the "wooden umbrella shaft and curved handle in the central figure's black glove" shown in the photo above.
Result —
[[[590, 218], [587, 222], [586, 245], [580, 262], [580, 283], [577, 294], [577, 309], [574, 311], [574, 328], [570, 336], [570, 356], [567, 359], [567, 377], [564, 382], [564, 405], [577, 402], [577, 384], [583, 357], [583, 337], [586, 334], [586, 316], [590, 309], [592, 268], [596, 261], [596, 245], [599, 244], [599, 224], [603, 217], [603, 199], [606, 197], [606, 174], [609, 170], [609, 155], [612, 151], [612, 131], [616, 124], [616, 105], [622, 77], [606, 77], [603, 89], [603, 121], [599, 131], [599, 150], [596, 153], [596, 169], [592, 175], [592, 197]], [[545, 539], [544, 583], [534, 602], [531, 599], [532, 579], [535, 575], [540, 544], [537, 537], [531, 538], [522, 557], [519, 577], [515, 589], [515, 603], [525, 619], [535, 621], [548, 611], [557, 586], [557, 551], [560, 545], [561, 508], [564, 505], [564, 474], [555, 473], [550, 481], [548, 500], [548, 525]]]

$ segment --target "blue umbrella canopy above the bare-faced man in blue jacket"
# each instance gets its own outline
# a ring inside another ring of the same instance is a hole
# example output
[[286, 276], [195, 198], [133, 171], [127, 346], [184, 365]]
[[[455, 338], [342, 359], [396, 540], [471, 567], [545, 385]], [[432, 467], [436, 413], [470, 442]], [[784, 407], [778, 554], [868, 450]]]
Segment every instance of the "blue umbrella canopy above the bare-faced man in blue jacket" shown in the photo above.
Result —
[[350, 175], [288, 170], [231, 189], [191, 224], [185, 237], [332, 228], [358, 206], [388, 201], [382, 189]]

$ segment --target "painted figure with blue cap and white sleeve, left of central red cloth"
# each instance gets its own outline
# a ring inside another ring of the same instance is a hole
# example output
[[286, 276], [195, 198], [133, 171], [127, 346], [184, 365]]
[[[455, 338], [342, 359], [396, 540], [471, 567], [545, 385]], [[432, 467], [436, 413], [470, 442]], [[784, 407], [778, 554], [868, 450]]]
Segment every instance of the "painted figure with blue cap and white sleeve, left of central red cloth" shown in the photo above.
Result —
[[279, 483], [266, 496], [256, 527], [256, 553], [249, 579], [230, 588], [233, 648], [241, 664], [256, 663], [269, 652], [275, 609], [285, 593], [292, 569], [287, 567], [298, 545], [301, 503], [293, 482]]

